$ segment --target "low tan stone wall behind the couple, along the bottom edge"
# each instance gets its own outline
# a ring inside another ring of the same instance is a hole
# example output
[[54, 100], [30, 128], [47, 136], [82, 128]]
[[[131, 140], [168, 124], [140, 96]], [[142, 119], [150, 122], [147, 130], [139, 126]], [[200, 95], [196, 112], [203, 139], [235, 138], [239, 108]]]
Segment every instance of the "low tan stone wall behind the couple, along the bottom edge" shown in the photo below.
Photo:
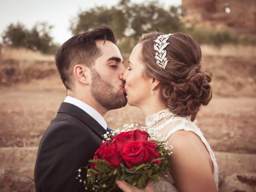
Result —
[[[36, 153], [37, 147], [0, 148], [1, 192], [35, 192]], [[219, 192], [256, 191], [256, 154], [215, 152], [215, 155], [220, 171]]]

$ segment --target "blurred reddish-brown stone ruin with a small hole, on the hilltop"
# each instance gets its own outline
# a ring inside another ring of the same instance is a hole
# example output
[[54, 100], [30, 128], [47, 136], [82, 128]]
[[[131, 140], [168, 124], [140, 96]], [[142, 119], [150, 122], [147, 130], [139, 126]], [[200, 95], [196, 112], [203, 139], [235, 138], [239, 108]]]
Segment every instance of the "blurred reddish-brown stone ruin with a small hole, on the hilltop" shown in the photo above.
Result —
[[182, 0], [182, 14], [189, 23], [256, 35], [256, 0]]

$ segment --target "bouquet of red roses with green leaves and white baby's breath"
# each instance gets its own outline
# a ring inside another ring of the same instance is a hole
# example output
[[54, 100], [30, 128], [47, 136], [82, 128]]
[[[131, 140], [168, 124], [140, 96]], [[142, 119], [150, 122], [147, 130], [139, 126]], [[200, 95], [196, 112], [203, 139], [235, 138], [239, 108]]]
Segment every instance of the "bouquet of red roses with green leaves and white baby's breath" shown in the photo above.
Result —
[[166, 147], [167, 142], [154, 140], [148, 132], [138, 129], [128, 130], [134, 124], [124, 125], [124, 130], [115, 130], [104, 134], [100, 148], [95, 152], [86, 169], [87, 178], [82, 180], [78, 170], [80, 182], [84, 183], [86, 190], [114, 191], [118, 190], [115, 180], [124, 180], [128, 184], [144, 188], [150, 179], [153, 183], [161, 178], [160, 172], [169, 170], [168, 158], [172, 152], [172, 146]]

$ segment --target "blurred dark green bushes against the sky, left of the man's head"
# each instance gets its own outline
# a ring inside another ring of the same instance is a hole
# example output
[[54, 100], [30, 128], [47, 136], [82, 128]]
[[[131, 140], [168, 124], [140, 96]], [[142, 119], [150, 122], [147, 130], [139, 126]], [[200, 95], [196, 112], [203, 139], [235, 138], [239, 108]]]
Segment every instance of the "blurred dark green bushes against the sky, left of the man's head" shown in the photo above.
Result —
[[53, 53], [57, 46], [50, 36], [52, 26], [46, 22], [37, 23], [28, 30], [21, 23], [10, 24], [2, 34], [3, 43], [12, 47], [25, 47], [43, 53]]

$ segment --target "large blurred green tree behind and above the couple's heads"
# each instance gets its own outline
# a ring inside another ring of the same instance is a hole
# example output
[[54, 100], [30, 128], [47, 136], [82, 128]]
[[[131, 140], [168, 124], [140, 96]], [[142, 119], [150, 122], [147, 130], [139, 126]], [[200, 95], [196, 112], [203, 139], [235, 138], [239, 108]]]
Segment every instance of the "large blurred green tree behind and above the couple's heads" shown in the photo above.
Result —
[[70, 30], [75, 35], [100, 25], [108, 25], [118, 38], [136, 38], [156, 29], [161, 32], [181, 30], [184, 25], [180, 22], [180, 14], [178, 8], [165, 9], [157, 1], [136, 4], [130, 0], [120, 0], [111, 8], [100, 6], [80, 11], [76, 20], [71, 21]]

